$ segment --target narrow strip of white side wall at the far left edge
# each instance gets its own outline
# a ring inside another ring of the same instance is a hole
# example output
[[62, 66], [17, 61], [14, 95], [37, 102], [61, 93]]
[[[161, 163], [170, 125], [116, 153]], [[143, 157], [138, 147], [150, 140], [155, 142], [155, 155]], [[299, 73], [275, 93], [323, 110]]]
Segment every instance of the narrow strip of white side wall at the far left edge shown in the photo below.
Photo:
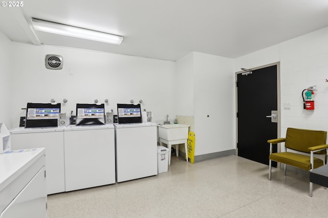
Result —
[[12, 128], [11, 66], [13, 61], [11, 48], [11, 41], [0, 31], [0, 123], [5, 123], [8, 129]]

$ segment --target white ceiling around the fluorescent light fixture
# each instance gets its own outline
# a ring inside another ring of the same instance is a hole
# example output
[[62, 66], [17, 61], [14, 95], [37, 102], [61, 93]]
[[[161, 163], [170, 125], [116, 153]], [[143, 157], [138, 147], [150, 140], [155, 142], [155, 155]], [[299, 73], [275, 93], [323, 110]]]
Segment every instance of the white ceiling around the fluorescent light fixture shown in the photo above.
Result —
[[[8, 1], [7, 1], [8, 2]], [[177, 60], [236, 58], [328, 26], [327, 0], [26, 0], [0, 7], [0, 30], [31, 43], [31, 17], [124, 37], [121, 45], [36, 31], [41, 43]], [[23, 17], [23, 19], [22, 19]]]

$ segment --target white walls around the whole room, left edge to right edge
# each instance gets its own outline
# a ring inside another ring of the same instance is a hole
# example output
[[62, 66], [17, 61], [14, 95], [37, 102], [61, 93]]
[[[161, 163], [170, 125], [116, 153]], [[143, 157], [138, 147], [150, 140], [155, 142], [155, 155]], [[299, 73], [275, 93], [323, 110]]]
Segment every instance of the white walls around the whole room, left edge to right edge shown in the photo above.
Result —
[[[104, 102], [106, 110], [130, 99], [144, 101], [161, 123], [169, 114], [193, 116], [196, 133], [195, 155], [235, 148], [234, 72], [280, 61], [281, 137], [287, 127], [328, 130], [328, 28], [285, 41], [235, 60], [192, 52], [174, 61], [157, 60], [53, 46], [32, 46], [11, 42], [0, 35], [0, 122], [18, 126], [27, 102], [62, 102], [64, 112], [75, 112], [75, 104]], [[12, 54], [11, 54], [12, 53]], [[64, 58], [64, 69], [47, 70], [46, 54]], [[13, 67], [11, 67], [11, 65]], [[70, 72], [73, 75], [70, 75]], [[11, 81], [11, 75], [13, 81]], [[193, 84], [190, 87], [190, 84]], [[314, 111], [302, 109], [301, 92], [317, 85]], [[186, 92], [188, 90], [188, 92]], [[13, 99], [11, 118], [3, 106]], [[207, 117], [209, 115], [209, 117]], [[11, 123], [10, 123], [11, 122]]]

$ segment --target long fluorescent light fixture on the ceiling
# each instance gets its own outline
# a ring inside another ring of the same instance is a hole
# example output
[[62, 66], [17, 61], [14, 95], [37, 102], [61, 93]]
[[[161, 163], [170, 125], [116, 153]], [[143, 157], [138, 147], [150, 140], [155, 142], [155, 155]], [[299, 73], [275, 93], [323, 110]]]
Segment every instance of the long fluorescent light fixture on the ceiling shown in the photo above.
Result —
[[78, 27], [73, 27], [65, 24], [53, 23], [46, 20], [32, 18], [32, 24], [35, 30], [54, 33], [65, 36], [72, 36], [76, 38], [84, 38], [94, 41], [101, 41], [111, 44], [120, 45], [123, 36], [103, 33]]

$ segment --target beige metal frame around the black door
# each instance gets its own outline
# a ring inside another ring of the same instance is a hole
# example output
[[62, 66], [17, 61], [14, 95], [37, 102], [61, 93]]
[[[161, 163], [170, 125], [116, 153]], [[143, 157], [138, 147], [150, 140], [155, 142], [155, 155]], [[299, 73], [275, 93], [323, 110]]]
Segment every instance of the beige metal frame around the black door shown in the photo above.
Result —
[[[278, 110], [278, 124], [277, 124], [277, 138], [281, 138], [281, 99], [280, 99], [280, 61], [274, 62], [274, 63], [269, 63], [265, 64], [263, 66], [251, 68], [251, 70], [258, 70], [262, 68], [267, 68], [271, 66], [277, 65], [277, 110]], [[238, 118], [237, 118], [237, 113], [238, 113], [238, 89], [237, 89], [237, 75], [244, 73], [244, 71], [238, 71], [235, 73], [235, 94], [236, 94], [236, 156], [238, 156]], [[269, 114], [268, 114], [269, 115]], [[269, 119], [269, 118], [268, 118]], [[268, 144], [269, 146], [269, 144]], [[277, 145], [277, 150], [280, 152], [280, 143]], [[280, 168], [280, 163], [278, 163], [277, 168]]]

